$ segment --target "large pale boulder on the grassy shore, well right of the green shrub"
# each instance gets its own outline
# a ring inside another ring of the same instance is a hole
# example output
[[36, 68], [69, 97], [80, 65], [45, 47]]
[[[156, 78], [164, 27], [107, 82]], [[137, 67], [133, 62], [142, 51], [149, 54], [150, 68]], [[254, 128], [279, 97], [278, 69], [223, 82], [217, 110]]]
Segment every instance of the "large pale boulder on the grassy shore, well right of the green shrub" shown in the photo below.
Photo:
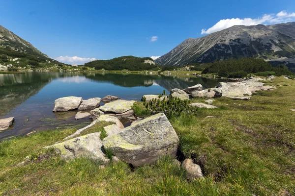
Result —
[[252, 95], [243, 82], [219, 82], [214, 91], [222, 97], [234, 99], [246, 99]]

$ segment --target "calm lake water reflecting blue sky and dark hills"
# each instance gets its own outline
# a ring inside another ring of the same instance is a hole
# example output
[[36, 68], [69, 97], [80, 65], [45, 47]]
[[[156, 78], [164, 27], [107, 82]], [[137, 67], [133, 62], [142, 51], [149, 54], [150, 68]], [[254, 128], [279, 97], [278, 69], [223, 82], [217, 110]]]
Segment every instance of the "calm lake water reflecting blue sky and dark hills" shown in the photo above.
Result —
[[203, 88], [216, 86], [220, 79], [116, 73], [9, 73], [0, 74], [0, 118], [15, 117], [13, 126], [0, 133], [0, 139], [24, 135], [32, 130], [83, 127], [89, 118], [75, 120], [77, 111], [53, 113], [57, 98], [84, 99], [113, 95], [140, 100], [143, 95], [158, 95], [173, 88], [183, 89], [198, 83]]

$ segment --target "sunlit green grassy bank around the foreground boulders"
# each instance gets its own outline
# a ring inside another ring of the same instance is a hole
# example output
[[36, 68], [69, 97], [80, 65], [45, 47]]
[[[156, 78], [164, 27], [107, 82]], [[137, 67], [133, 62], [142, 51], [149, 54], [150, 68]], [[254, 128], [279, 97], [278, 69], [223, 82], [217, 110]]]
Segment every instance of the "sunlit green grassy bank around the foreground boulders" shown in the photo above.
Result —
[[[101, 170], [86, 158], [65, 162], [42, 156], [42, 147], [75, 131], [49, 130], [0, 143], [0, 194], [295, 195], [295, 80], [280, 77], [270, 84], [282, 86], [258, 92], [249, 101], [216, 98], [218, 109], [170, 120], [181, 151], [201, 166], [204, 179], [187, 181], [169, 157], [153, 166], [134, 169], [119, 163]], [[142, 103], [135, 112], [147, 115]], [[16, 166], [30, 154], [34, 164]]]

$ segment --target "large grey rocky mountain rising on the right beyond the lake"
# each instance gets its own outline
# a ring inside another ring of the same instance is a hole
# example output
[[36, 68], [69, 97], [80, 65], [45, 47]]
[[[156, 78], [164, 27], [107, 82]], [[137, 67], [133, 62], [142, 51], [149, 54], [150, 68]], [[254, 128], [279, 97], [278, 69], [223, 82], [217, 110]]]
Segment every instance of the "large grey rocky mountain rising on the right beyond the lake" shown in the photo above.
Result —
[[292, 64], [295, 63], [295, 22], [235, 25], [201, 38], [189, 38], [155, 62], [164, 66], [184, 66], [242, 57], [280, 61], [295, 69]]

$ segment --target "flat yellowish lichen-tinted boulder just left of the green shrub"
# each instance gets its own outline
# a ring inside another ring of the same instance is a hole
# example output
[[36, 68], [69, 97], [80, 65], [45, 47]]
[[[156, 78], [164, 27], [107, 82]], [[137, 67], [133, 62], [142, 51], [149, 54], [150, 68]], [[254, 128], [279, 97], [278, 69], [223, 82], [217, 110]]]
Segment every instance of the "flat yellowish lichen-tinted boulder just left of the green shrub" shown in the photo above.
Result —
[[133, 103], [135, 101], [127, 101], [127, 100], [116, 100], [110, 103], [106, 103], [101, 106], [99, 109], [103, 112], [114, 112], [114, 113], [124, 113], [128, 110], [131, 110]]

